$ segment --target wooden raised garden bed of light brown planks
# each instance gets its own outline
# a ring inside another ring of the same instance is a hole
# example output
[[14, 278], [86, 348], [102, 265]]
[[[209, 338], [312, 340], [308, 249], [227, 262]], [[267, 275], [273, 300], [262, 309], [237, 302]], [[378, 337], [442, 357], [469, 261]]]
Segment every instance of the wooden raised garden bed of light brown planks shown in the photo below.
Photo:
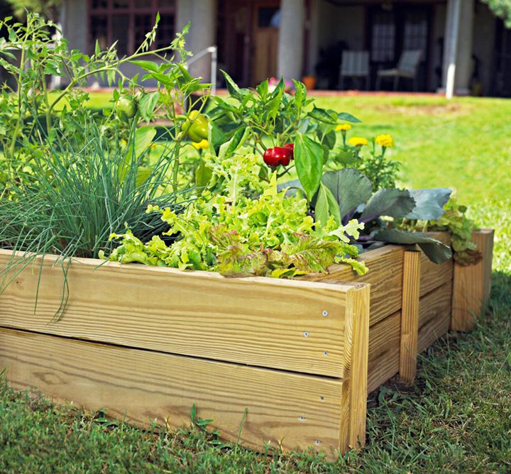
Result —
[[[334, 265], [306, 280], [77, 259], [59, 321], [62, 268], [47, 256], [35, 312], [40, 260], [0, 295], [0, 370], [14, 387], [135, 424], [189, 424], [196, 404], [227, 439], [241, 429], [249, 446], [334, 455], [363, 444], [367, 392], [397, 372], [411, 381], [417, 352], [449, 329], [457, 282], [480, 294], [459, 321], [484, 308], [491, 239], [481, 238], [480, 267], [385, 246], [363, 255], [363, 277]], [[11, 256], [0, 250], [0, 268]]]

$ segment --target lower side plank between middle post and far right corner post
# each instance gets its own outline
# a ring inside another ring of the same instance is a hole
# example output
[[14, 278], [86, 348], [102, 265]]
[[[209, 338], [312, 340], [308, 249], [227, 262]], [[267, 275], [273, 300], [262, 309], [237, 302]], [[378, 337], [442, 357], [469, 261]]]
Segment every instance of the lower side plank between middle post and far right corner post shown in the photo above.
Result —
[[449, 331], [452, 287], [452, 282], [448, 282], [420, 299], [417, 343], [419, 352]]

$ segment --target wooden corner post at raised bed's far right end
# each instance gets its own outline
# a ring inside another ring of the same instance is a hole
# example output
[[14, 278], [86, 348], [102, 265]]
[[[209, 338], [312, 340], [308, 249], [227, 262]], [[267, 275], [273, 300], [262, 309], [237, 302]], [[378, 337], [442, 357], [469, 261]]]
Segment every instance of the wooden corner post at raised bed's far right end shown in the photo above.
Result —
[[470, 331], [476, 319], [488, 308], [491, 289], [494, 231], [485, 229], [472, 234], [483, 258], [476, 265], [454, 264], [454, 290], [451, 329]]

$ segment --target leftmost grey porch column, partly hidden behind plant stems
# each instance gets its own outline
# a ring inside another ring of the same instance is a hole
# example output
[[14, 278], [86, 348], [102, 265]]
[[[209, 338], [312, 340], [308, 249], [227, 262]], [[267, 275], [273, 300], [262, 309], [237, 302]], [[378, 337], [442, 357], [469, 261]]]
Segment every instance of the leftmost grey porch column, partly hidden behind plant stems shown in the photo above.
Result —
[[[216, 1], [215, 0], [178, 0], [176, 29], [181, 31], [190, 22], [186, 38], [187, 50], [197, 54], [216, 44]], [[211, 55], [207, 54], [189, 65], [189, 72], [209, 82], [211, 77]]]

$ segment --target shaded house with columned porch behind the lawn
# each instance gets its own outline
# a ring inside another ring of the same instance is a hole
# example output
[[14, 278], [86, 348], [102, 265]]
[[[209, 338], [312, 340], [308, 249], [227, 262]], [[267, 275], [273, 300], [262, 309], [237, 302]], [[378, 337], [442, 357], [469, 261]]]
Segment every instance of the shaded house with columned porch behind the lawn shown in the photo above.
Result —
[[[454, 64], [457, 94], [511, 96], [511, 33], [478, 0], [64, 0], [61, 23], [72, 48], [118, 40], [123, 55], [158, 11], [155, 48], [190, 21], [187, 47], [218, 45], [219, 65], [245, 86], [313, 75], [319, 87], [335, 89], [342, 51], [367, 50], [374, 87], [378, 70], [421, 50], [419, 90], [445, 87]], [[209, 78], [210, 65], [204, 57], [190, 69]]]

